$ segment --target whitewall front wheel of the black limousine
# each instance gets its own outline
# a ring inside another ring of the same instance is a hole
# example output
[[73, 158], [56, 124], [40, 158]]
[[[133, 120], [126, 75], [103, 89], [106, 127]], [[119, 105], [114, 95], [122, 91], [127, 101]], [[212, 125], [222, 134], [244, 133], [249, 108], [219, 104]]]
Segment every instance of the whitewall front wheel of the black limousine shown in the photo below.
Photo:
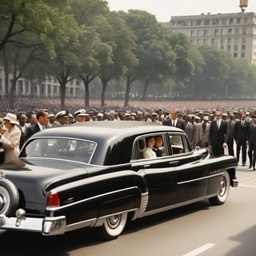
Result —
[[220, 180], [218, 194], [214, 198], [209, 198], [210, 204], [213, 206], [222, 205], [230, 193], [230, 175], [224, 172]]

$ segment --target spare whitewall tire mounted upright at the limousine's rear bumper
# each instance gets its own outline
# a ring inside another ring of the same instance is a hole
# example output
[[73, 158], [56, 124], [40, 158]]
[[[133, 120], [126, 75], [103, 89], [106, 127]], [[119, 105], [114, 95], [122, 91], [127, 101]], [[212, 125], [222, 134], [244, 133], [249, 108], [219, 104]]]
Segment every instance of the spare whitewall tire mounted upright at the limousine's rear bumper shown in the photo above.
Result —
[[18, 190], [9, 180], [0, 179], [0, 214], [11, 216], [18, 209]]

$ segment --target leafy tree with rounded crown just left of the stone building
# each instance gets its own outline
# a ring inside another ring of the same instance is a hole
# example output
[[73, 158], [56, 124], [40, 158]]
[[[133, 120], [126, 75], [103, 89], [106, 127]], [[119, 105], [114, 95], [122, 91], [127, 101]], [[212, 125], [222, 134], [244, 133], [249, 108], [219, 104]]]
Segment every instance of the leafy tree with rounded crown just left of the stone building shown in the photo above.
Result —
[[126, 72], [126, 99], [128, 105], [130, 84], [138, 79], [144, 80], [142, 99], [150, 82], [159, 82], [174, 74], [175, 54], [171, 50], [165, 30], [154, 15], [142, 10], [129, 10], [128, 13], [119, 12], [126, 19], [128, 26], [136, 35], [137, 47], [134, 51], [138, 63]]

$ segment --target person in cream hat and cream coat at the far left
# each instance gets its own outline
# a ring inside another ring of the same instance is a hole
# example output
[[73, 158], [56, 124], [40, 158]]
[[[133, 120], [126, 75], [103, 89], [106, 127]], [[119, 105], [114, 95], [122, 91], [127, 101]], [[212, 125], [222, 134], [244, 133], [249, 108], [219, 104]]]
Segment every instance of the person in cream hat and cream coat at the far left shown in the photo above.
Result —
[[18, 158], [21, 130], [18, 129], [16, 114], [7, 113], [3, 118], [4, 127], [0, 128], [0, 142], [5, 150], [4, 163]]

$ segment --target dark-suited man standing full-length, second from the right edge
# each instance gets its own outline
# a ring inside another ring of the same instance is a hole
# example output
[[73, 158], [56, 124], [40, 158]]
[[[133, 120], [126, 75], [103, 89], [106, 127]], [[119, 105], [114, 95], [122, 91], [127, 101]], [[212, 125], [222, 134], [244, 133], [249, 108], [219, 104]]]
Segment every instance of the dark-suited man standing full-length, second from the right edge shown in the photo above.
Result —
[[246, 166], [246, 136], [250, 122], [246, 121], [246, 114], [241, 115], [241, 120], [234, 124], [234, 141], [237, 144], [237, 158], [239, 162], [240, 150], [242, 147], [242, 166]]

